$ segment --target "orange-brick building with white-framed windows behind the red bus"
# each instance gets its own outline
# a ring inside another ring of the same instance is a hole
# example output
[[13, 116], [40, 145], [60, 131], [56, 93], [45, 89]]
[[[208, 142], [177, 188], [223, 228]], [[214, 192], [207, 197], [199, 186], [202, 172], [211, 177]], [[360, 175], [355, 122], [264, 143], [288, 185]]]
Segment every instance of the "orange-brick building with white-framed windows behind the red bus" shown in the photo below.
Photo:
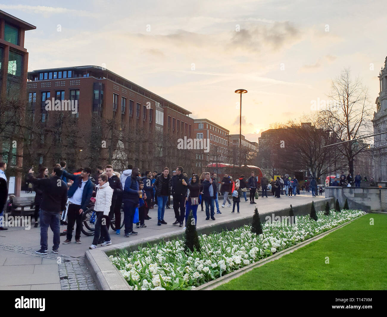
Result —
[[195, 153], [199, 165], [201, 162], [205, 165], [207, 163], [227, 163], [228, 134], [229, 130], [208, 119], [194, 119], [195, 139], [209, 140], [207, 153], [204, 151]]

